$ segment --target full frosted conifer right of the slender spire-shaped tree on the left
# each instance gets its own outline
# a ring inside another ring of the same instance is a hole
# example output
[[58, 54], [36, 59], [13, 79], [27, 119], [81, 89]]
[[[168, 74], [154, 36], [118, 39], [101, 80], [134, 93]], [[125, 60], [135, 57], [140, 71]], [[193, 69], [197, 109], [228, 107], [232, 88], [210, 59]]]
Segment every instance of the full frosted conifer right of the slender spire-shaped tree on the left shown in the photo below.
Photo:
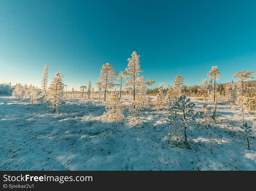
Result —
[[62, 80], [63, 77], [64, 76], [61, 74], [61, 72], [57, 72], [55, 77], [52, 78], [52, 82], [49, 87], [49, 95], [47, 100], [51, 103], [54, 112], [62, 103], [62, 98], [64, 95], [64, 83]]

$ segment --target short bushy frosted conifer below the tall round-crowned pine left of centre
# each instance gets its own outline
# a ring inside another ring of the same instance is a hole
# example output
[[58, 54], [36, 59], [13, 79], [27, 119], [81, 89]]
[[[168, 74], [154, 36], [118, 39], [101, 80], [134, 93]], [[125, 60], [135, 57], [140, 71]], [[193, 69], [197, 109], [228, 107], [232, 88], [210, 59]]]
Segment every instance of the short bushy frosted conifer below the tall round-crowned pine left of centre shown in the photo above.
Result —
[[105, 108], [107, 110], [108, 117], [111, 119], [120, 120], [124, 117], [122, 115], [122, 112], [124, 111], [122, 102], [120, 101], [120, 97], [116, 91], [111, 92], [109, 101], [106, 103]]

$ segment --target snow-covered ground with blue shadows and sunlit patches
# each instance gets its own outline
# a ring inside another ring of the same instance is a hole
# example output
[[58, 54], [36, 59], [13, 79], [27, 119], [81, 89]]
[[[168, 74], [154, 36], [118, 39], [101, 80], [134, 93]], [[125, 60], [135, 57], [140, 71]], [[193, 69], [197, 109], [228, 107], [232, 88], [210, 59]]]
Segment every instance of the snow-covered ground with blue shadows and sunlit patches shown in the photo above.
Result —
[[[123, 100], [127, 109], [131, 97]], [[202, 111], [205, 102], [195, 103]], [[138, 125], [127, 113], [121, 122], [106, 119], [105, 111], [97, 99], [52, 113], [45, 104], [0, 97], [0, 170], [256, 170], [255, 130], [248, 150], [241, 116], [228, 105], [218, 105], [217, 123], [189, 131], [191, 149], [170, 144], [164, 110], [145, 108]]]

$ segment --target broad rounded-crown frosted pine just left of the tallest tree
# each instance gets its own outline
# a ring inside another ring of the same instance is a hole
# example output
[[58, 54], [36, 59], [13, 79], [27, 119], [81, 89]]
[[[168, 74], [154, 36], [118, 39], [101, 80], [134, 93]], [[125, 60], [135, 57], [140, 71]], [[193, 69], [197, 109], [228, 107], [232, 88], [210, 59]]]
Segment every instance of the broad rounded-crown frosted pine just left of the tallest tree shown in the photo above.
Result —
[[115, 78], [117, 73], [113, 69], [109, 63], [102, 65], [102, 69], [100, 69], [100, 77], [99, 80], [102, 81], [102, 88], [104, 88], [104, 101], [106, 101], [106, 92], [107, 89], [111, 89], [115, 86]]

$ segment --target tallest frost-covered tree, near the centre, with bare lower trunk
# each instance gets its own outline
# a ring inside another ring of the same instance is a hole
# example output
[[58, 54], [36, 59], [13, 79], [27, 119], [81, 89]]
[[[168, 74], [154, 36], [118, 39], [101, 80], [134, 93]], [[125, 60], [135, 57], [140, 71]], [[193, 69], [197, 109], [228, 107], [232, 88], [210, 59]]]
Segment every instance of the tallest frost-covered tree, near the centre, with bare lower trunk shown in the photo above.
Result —
[[[131, 54], [131, 58], [128, 58], [128, 68], [126, 68], [126, 72], [129, 75], [131, 79], [128, 79], [125, 83], [125, 86], [127, 88], [131, 88], [133, 90], [133, 100], [135, 101], [135, 91], [136, 91], [136, 84], [138, 81], [139, 73], [143, 72], [143, 70], [140, 69], [141, 65], [139, 60], [140, 55], [137, 55], [137, 53], [134, 51]], [[135, 106], [134, 106], [135, 107]]]

